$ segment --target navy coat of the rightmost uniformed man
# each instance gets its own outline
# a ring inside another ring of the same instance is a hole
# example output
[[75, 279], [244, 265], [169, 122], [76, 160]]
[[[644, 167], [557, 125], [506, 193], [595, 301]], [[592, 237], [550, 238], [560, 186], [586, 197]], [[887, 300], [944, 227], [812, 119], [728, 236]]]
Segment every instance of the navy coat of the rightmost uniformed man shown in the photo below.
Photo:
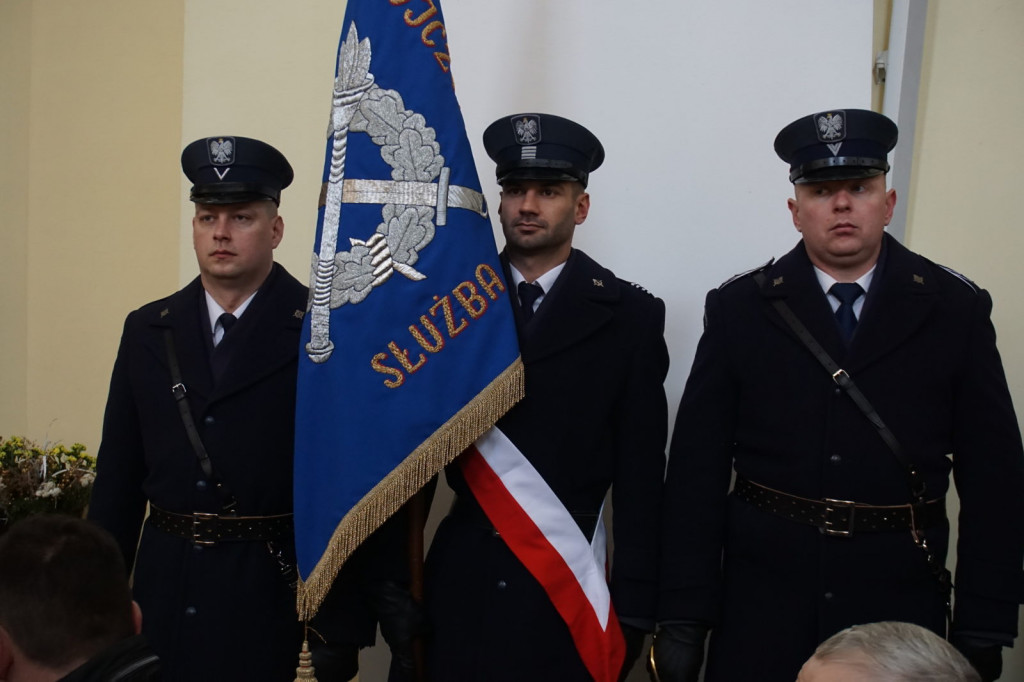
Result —
[[[662, 620], [717, 624], [709, 682], [792, 682], [819, 642], [853, 624], [944, 633], [940, 591], [909, 531], [825, 537], [727, 495], [734, 467], [806, 498], [911, 499], [874, 427], [771, 306], [780, 298], [873, 403], [929, 498], [945, 495], [952, 470], [954, 628], [1015, 635], [1024, 460], [988, 294], [886, 236], [846, 351], [803, 243], [764, 272], [763, 290], [746, 275], [708, 294], [669, 458]], [[940, 558], [947, 536], [947, 525], [927, 534]]]

